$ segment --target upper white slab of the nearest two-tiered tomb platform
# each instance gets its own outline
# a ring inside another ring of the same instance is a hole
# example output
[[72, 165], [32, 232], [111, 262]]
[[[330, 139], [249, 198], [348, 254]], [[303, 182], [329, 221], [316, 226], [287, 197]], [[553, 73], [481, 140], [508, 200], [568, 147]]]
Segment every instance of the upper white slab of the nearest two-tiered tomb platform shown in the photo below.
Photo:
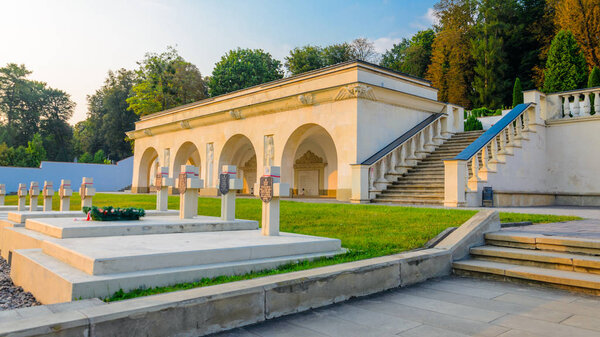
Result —
[[341, 242], [316, 236], [259, 230], [131, 235], [45, 241], [44, 254], [92, 275], [338, 251]]

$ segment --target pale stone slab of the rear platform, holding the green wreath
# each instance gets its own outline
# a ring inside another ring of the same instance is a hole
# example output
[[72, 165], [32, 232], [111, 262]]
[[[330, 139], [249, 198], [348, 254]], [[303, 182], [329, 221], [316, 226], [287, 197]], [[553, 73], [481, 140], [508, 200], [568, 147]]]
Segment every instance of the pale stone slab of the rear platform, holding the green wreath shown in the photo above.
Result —
[[84, 238], [101, 236], [192, 233], [258, 229], [252, 220], [225, 221], [217, 217], [198, 215], [194, 219], [177, 216], [143, 217], [137, 221], [79, 221], [64, 218], [30, 218], [25, 228], [54, 238]]

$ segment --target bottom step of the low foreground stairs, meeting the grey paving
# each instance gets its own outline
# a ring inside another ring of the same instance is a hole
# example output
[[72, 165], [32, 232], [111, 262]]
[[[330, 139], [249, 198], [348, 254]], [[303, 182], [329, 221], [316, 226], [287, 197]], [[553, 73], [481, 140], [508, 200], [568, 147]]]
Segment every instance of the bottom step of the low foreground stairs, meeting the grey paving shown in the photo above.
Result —
[[484, 260], [463, 260], [452, 264], [455, 271], [499, 275], [513, 279], [549, 283], [565, 287], [600, 290], [600, 275], [545, 269]]

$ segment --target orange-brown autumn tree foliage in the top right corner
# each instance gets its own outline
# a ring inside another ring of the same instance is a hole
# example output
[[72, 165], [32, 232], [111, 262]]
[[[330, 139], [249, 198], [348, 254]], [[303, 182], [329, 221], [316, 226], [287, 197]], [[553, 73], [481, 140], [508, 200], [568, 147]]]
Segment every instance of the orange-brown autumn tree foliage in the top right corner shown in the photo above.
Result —
[[573, 33], [589, 69], [600, 67], [600, 0], [558, 1], [556, 24]]

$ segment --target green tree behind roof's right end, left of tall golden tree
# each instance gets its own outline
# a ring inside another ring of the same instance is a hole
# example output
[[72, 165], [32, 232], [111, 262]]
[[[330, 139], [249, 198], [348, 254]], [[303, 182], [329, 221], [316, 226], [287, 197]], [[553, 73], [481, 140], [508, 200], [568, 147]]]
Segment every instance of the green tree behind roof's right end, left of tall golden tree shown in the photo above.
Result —
[[392, 49], [387, 50], [379, 65], [409, 75], [424, 77], [431, 64], [432, 45], [435, 39], [433, 29], [417, 32], [410, 40], [403, 38]]

